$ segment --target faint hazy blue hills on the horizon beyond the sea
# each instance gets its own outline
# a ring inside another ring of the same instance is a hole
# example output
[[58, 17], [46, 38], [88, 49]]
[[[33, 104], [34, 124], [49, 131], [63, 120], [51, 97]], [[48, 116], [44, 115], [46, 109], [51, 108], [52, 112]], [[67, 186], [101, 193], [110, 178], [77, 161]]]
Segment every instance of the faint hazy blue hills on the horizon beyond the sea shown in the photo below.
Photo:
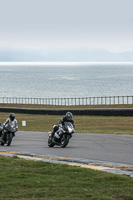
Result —
[[0, 48], [0, 62], [133, 62], [133, 52], [112, 53], [103, 49]]

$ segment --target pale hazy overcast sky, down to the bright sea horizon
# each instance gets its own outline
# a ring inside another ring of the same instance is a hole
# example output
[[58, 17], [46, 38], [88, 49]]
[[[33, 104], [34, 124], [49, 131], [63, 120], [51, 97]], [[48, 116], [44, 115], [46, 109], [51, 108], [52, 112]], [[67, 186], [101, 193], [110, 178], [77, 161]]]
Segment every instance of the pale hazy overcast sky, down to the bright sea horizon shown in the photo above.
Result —
[[0, 0], [0, 61], [133, 61], [133, 0]]

